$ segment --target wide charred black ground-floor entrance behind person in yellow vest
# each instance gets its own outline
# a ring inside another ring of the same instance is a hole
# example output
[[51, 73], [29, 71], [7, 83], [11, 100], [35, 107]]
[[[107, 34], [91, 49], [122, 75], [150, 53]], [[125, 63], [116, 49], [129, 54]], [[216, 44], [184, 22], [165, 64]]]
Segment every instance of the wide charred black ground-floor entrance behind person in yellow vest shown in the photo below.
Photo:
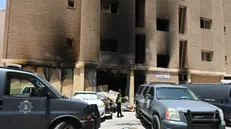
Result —
[[122, 95], [126, 94], [127, 87], [127, 73], [121, 72], [119, 70], [98, 70], [97, 71], [97, 86], [99, 85], [108, 85], [108, 91], [114, 90], [118, 91], [122, 90]]

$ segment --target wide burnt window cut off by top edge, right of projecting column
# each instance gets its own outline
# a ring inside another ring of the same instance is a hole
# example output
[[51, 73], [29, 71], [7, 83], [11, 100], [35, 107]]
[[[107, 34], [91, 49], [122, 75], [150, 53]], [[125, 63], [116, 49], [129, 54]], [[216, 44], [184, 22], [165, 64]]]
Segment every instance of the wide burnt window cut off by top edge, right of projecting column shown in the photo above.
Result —
[[101, 11], [105, 13], [118, 14], [119, 2], [117, 0], [101, 0]]

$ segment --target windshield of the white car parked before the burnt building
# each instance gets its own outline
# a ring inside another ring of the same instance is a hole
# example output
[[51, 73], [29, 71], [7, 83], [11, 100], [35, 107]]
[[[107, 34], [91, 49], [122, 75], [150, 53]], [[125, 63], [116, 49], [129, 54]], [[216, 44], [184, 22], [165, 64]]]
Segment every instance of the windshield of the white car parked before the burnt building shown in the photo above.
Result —
[[97, 100], [98, 96], [94, 93], [75, 93], [72, 98], [80, 100]]

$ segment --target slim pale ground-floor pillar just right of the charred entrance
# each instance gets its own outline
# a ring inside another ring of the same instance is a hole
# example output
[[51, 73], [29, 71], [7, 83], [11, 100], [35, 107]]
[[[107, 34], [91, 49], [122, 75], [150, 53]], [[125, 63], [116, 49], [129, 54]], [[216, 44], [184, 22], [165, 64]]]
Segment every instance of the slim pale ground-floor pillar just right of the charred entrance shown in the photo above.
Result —
[[135, 92], [135, 82], [134, 82], [134, 70], [130, 71], [130, 87], [129, 87], [129, 103], [134, 103], [134, 92]]

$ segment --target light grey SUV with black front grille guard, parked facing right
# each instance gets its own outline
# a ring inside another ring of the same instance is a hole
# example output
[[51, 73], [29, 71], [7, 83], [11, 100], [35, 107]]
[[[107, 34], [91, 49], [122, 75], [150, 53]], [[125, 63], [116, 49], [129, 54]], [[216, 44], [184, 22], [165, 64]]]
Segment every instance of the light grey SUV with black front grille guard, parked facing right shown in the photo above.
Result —
[[226, 126], [220, 108], [200, 101], [186, 87], [169, 84], [140, 86], [136, 94], [136, 117], [143, 117], [152, 129], [225, 129]]

